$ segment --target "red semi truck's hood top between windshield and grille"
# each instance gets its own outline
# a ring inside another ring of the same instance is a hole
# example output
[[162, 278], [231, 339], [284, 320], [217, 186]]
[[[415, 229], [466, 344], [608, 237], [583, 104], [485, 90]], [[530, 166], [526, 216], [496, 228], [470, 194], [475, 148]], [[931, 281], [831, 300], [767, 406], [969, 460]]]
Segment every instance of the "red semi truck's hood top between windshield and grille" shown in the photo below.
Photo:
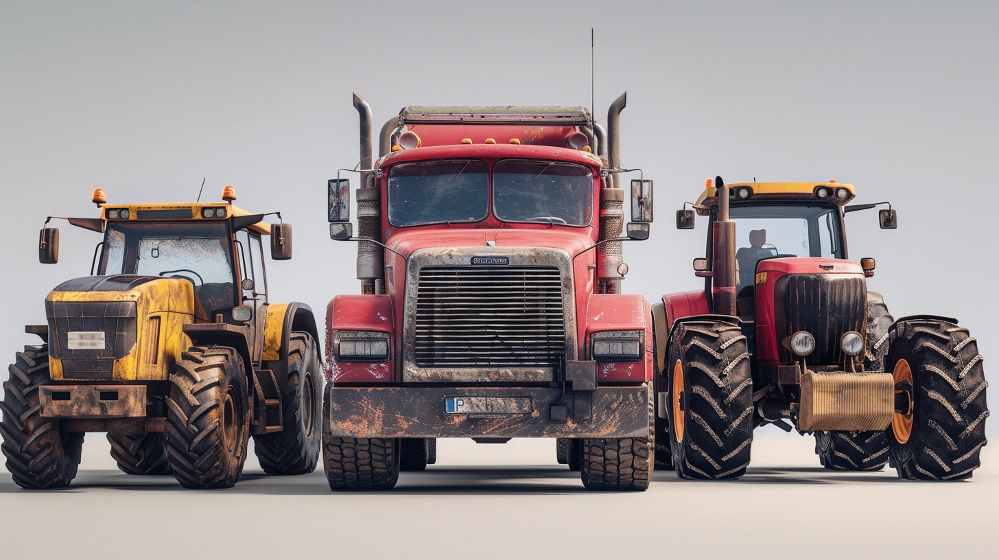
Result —
[[446, 247], [545, 247], [575, 256], [596, 242], [591, 228], [545, 229], [428, 229], [416, 228], [394, 234], [388, 245], [409, 256], [413, 251]]

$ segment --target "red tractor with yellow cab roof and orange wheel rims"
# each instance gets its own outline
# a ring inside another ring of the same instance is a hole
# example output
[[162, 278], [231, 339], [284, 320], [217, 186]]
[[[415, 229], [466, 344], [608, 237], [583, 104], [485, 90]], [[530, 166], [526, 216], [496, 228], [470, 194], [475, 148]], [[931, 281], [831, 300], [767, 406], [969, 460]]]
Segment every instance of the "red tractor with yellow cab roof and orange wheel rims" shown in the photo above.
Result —
[[[955, 319], [892, 319], [868, 292], [874, 260], [847, 259], [852, 185], [711, 181], [677, 227], [709, 219], [704, 289], [652, 308], [657, 466], [731, 479], [763, 424], [815, 435], [822, 465], [907, 479], [968, 478], [985, 445], [987, 383], [975, 339]], [[684, 205], [685, 206], [685, 205]], [[737, 224], [737, 227], [736, 227]], [[880, 211], [882, 228], [897, 225]], [[670, 462], [672, 463], [670, 465]]]

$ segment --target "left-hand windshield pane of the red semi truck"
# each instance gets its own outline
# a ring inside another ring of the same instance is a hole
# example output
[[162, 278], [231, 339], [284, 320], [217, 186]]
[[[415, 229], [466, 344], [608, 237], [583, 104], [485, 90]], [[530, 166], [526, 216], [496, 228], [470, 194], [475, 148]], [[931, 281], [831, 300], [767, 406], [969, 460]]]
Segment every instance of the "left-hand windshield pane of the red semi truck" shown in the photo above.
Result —
[[489, 192], [484, 161], [401, 163], [389, 170], [389, 223], [407, 227], [485, 220]]

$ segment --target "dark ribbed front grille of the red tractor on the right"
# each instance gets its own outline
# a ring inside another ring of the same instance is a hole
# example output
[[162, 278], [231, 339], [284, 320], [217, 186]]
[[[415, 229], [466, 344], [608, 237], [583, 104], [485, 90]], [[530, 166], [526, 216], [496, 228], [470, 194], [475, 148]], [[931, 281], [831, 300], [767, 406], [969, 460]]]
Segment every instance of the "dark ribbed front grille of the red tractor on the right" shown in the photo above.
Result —
[[[867, 286], [864, 279], [847, 274], [788, 274], [774, 286], [774, 317], [777, 342], [797, 331], [815, 337], [815, 350], [805, 358], [809, 364], [842, 363], [845, 355], [839, 340], [844, 333], [864, 335]], [[781, 361], [795, 359], [780, 346]]]

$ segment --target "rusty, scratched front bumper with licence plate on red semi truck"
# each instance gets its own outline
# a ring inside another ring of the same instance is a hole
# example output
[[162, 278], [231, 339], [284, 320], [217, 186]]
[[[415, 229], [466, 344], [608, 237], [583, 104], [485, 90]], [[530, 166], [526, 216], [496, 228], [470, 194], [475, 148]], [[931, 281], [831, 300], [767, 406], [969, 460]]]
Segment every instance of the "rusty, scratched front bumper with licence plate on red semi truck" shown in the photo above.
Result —
[[563, 397], [546, 387], [329, 387], [326, 397], [336, 437], [648, 437], [647, 385]]

